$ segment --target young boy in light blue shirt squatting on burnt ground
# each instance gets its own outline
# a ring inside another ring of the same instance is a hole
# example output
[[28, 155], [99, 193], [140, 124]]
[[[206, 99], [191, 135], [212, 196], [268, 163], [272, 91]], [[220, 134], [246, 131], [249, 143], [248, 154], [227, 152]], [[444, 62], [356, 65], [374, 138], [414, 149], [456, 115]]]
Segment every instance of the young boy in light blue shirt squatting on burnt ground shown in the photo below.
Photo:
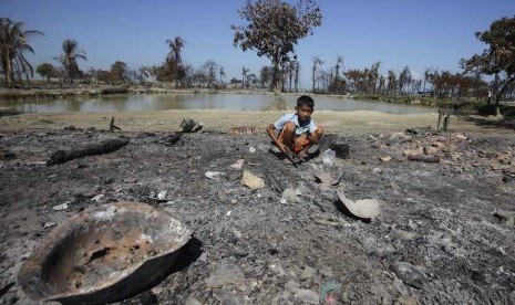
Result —
[[[311, 118], [315, 101], [310, 96], [300, 96], [295, 109], [296, 113], [286, 114], [276, 123], [268, 125], [267, 134], [282, 154], [293, 152], [303, 159], [308, 149], [317, 145], [323, 136], [323, 128], [317, 126]], [[276, 136], [276, 129], [279, 130], [278, 136]]]

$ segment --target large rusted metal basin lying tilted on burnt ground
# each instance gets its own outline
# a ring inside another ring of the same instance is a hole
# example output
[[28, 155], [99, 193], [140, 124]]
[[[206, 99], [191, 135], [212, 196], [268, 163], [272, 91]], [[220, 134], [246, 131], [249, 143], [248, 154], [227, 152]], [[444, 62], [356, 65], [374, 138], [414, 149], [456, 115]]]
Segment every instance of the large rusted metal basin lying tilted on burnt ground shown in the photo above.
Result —
[[190, 235], [179, 220], [146, 203], [84, 210], [49, 233], [18, 281], [34, 301], [120, 301], [163, 276]]

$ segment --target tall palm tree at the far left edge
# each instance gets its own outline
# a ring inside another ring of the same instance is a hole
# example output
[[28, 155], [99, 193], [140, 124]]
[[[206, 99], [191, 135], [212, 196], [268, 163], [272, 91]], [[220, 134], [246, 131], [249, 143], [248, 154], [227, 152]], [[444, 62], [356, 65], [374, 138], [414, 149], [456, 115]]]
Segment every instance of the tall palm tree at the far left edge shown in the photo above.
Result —
[[43, 35], [43, 33], [34, 30], [23, 31], [23, 22], [0, 18], [0, 59], [7, 87], [12, 87], [14, 72], [19, 73], [20, 78], [21, 74], [25, 74], [27, 77], [29, 73], [31, 76], [34, 75], [34, 69], [23, 53], [27, 51], [34, 53], [27, 40], [31, 35]]

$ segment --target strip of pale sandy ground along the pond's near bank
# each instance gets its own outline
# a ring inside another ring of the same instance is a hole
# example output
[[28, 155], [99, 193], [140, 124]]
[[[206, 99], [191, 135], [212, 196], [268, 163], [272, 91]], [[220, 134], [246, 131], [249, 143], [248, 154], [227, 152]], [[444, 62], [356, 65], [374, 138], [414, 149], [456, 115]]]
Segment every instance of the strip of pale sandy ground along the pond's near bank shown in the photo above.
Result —
[[[204, 124], [204, 130], [228, 132], [230, 127], [255, 126], [262, 130], [284, 112], [230, 112], [230, 111], [154, 111], [122, 113], [64, 113], [21, 114], [0, 117], [0, 130], [61, 129], [95, 127], [107, 129], [111, 117], [125, 132], [173, 132], [183, 118], [193, 118]], [[327, 133], [340, 135], [368, 135], [404, 132], [413, 127], [436, 128], [437, 114], [390, 115], [378, 112], [330, 112], [313, 114], [317, 124]], [[497, 119], [474, 116], [452, 116], [451, 129], [463, 133], [490, 133]], [[495, 133], [511, 133], [514, 128], [495, 128]]]

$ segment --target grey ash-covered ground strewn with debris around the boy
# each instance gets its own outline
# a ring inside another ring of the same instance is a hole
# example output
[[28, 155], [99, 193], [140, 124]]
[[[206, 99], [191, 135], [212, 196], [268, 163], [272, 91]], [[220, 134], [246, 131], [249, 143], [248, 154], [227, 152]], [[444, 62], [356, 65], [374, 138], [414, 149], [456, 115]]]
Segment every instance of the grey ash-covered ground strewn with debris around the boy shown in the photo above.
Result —
[[[103, 139], [128, 145], [47, 166]], [[265, 134], [23, 130], [0, 135], [0, 303], [34, 304], [18, 271], [66, 218], [146, 202], [192, 230], [178, 271], [121, 304], [514, 304], [513, 135], [412, 130], [339, 139], [349, 157], [293, 167]], [[408, 160], [437, 156], [440, 162]], [[243, 169], [230, 166], [244, 159]], [[223, 172], [209, 179], [207, 171]], [[265, 188], [241, 183], [244, 171]], [[330, 172], [339, 183], [315, 178]], [[364, 222], [337, 191], [377, 199]]]

